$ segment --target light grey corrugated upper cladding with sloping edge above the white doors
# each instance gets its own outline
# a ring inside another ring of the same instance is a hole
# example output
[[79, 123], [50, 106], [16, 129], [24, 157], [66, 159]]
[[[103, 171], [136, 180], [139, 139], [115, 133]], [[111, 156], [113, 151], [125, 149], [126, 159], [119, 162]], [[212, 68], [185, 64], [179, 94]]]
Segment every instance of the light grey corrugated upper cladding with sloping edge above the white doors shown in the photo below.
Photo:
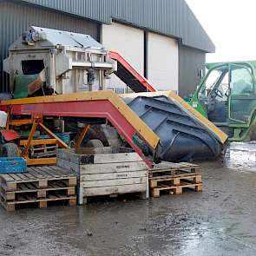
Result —
[[181, 38], [184, 45], [213, 52], [215, 47], [185, 0], [23, 0], [88, 17], [102, 23], [112, 18]]

